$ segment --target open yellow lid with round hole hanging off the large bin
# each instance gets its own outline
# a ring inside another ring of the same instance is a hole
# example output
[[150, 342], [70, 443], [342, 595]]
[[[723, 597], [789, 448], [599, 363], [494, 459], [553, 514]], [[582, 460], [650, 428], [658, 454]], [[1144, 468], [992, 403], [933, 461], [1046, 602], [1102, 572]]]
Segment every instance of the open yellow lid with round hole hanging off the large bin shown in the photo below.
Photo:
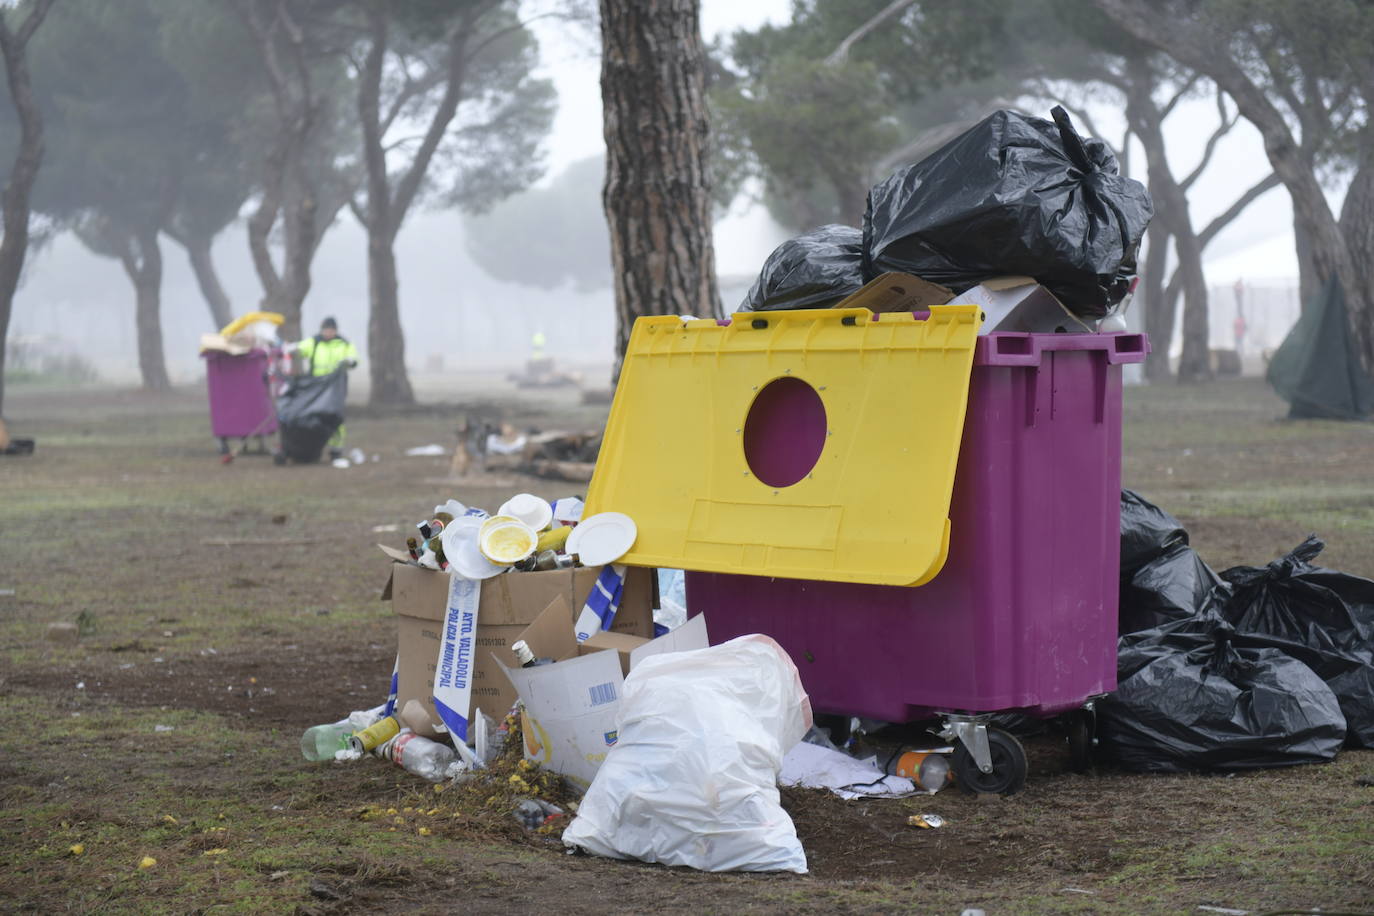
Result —
[[585, 515], [624, 560], [921, 585], [944, 566], [981, 316], [867, 309], [635, 323]]

